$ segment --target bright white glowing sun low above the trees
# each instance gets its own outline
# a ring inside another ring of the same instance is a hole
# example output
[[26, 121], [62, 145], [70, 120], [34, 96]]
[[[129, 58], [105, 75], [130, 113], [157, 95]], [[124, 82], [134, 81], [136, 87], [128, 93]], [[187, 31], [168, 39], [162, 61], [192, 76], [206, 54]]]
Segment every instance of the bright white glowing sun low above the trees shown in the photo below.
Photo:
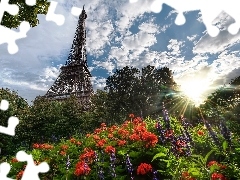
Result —
[[190, 98], [196, 106], [204, 102], [203, 94], [208, 90], [209, 82], [201, 78], [191, 78], [180, 83], [180, 91]]

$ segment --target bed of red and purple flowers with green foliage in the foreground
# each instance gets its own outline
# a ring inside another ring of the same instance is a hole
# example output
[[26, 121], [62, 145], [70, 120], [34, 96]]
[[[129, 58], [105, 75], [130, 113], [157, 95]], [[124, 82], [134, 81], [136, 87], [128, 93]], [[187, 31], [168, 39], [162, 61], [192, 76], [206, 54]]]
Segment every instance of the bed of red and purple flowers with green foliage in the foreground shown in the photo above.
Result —
[[[122, 125], [102, 123], [92, 134], [58, 144], [33, 144], [35, 163], [46, 161], [50, 171], [41, 179], [238, 179], [238, 136], [224, 123], [196, 127], [184, 118], [153, 120], [129, 115]], [[21, 179], [25, 165], [13, 157], [10, 176]]]

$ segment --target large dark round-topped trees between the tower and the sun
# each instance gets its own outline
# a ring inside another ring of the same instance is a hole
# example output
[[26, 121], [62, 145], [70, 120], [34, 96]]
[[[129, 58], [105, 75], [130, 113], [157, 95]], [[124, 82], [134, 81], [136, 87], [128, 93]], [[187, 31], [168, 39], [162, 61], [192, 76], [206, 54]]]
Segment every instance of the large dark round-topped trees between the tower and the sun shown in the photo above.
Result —
[[118, 120], [128, 113], [146, 117], [161, 111], [164, 97], [174, 90], [176, 83], [169, 68], [156, 69], [147, 66], [139, 69], [124, 67], [107, 78], [105, 90], [108, 92], [108, 104]]

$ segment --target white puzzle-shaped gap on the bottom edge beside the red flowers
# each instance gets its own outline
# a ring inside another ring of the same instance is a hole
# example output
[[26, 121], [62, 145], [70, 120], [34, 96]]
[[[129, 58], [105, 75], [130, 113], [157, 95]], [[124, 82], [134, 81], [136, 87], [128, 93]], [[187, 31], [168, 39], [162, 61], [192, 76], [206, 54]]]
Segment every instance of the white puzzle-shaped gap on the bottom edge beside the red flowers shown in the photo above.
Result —
[[29, 155], [24, 151], [19, 151], [16, 155], [16, 158], [18, 161], [27, 162], [27, 166], [24, 170], [21, 180], [40, 180], [38, 174], [49, 171], [49, 165], [46, 162], [35, 165], [32, 155]]

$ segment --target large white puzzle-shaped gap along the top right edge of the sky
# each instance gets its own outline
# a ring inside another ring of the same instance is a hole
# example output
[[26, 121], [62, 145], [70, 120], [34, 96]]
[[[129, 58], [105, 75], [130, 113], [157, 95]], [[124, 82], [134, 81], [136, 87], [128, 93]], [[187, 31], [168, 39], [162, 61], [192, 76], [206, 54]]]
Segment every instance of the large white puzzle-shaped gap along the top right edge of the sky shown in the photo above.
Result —
[[[129, 0], [130, 3], [136, 3], [138, 0]], [[167, 4], [176, 9], [178, 15], [175, 23], [183, 25], [186, 19], [183, 15], [187, 11], [200, 10], [202, 13], [202, 21], [206, 26], [207, 32], [210, 36], [216, 37], [220, 30], [212, 25], [212, 22], [220, 15], [222, 11], [235, 19], [235, 23], [228, 27], [228, 32], [232, 35], [238, 33], [240, 28], [240, 11], [238, 7], [240, 1], [236, 0], [154, 0], [151, 4], [151, 11], [159, 13], [162, 10], [162, 5]]]

